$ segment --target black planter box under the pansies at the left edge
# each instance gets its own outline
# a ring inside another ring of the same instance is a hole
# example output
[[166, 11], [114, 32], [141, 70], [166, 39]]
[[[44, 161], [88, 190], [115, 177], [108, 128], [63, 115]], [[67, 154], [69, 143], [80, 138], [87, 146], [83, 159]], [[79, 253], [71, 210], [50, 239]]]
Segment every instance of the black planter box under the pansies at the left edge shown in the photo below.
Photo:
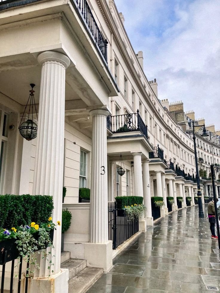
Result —
[[19, 250], [15, 243], [17, 239], [7, 239], [0, 242], [0, 265], [15, 260], [19, 257]]

